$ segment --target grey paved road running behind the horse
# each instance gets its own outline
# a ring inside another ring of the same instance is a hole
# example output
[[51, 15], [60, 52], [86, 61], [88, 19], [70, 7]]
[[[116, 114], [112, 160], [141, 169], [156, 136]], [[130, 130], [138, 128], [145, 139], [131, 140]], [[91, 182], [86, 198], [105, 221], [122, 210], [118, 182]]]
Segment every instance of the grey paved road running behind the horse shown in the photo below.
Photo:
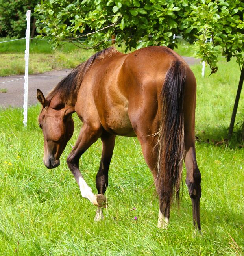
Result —
[[[200, 59], [192, 57], [183, 57], [189, 65], [200, 62]], [[51, 71], [43, 74], [33, 74], [29, 76], [28, 81], [28, 105], [37, 103], [36, 93], [37, 88], [46, 95], [57, 83], [59, 83], [67, 74], [70, 69], [59, 71]], [[0, 90], [7, 89], [7, 93], [0, 93], [0, 106], [7, 107], [22, 107], [24, 104], [24, 75], [18, 76], [4, 76], [0, 77]], [[18, 79], [18, 80], [15, 80]], [[7, 82], [15, 80], [12, 82]], [[3, 83], [7, 82], [7, 83]]]

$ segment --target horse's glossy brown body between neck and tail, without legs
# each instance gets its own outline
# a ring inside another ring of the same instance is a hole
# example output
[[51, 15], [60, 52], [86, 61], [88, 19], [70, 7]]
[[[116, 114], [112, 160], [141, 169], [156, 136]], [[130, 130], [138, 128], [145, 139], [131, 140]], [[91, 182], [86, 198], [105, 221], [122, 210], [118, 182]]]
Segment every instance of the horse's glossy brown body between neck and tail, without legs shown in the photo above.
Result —
[[[174, 61], [188, 67], [179, 55], [163, 46], [98, 59], [78, 94], [82, 120], [84, 115], [92, 115], [92, 122], [100, 122], [116, 135], [135, 136], [139, 123], [148, 126], [151, 133], [156, 132], [159, 95]], [[89, 111], [84, 110], [87, 107]]]

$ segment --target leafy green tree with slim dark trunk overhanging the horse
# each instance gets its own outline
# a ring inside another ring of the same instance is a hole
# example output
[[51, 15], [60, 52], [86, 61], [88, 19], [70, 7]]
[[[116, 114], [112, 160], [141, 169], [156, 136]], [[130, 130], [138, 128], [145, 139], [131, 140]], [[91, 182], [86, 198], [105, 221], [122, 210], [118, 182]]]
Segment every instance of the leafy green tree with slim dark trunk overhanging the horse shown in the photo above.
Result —
[[[233, 130], [243, 83], [243, 9], [239, 0], [50, 0], [36, 6], [42, 15], [39, 33], [54, 46], [71, 41], [81, 48], [104, 48], [116, 34], [126, 51], [150, 45], [176, 47], [173, 34], [194, 41], [198, 56], [212, 72], [218, 56], [237, 59], [241, 69], [237, 100], [229, 134]], [[212, 38], [213, 41], [206, 43]], [[197, 39], [197, 40], [196, 40]]]

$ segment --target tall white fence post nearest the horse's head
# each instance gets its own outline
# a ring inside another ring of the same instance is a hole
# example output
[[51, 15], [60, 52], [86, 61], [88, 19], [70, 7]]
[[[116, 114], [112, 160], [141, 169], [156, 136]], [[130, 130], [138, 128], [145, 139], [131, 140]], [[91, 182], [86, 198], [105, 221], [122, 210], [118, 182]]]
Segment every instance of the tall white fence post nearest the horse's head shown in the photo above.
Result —
[[26, 127], [27, 126], [27, 109], [28, 109], [28, 72], [29, 72], [29, 43], [30, 43], [30, 14], [31, 11], [28, 10], [26, 12], [26, 20], [27, 20], [27, 26], [26, 26], [26, 50], [24, 59], [26, 61], [25, 65], [25, 76], [24, 76], [24, 120], [23, 124]]

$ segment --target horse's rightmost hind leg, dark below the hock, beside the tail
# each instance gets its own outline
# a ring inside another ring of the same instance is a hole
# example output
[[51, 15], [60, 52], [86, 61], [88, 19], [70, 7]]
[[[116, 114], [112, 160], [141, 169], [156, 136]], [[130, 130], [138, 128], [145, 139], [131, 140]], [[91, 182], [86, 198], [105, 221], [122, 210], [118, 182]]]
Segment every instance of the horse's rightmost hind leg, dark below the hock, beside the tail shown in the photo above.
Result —
[[187, 169], [186, 184], [192, 200], [193, 225], [201, 231], [200, 224], [200, 198], [201, 173], [196, 162], [194, 136], [185, 131], [185, 166]]

